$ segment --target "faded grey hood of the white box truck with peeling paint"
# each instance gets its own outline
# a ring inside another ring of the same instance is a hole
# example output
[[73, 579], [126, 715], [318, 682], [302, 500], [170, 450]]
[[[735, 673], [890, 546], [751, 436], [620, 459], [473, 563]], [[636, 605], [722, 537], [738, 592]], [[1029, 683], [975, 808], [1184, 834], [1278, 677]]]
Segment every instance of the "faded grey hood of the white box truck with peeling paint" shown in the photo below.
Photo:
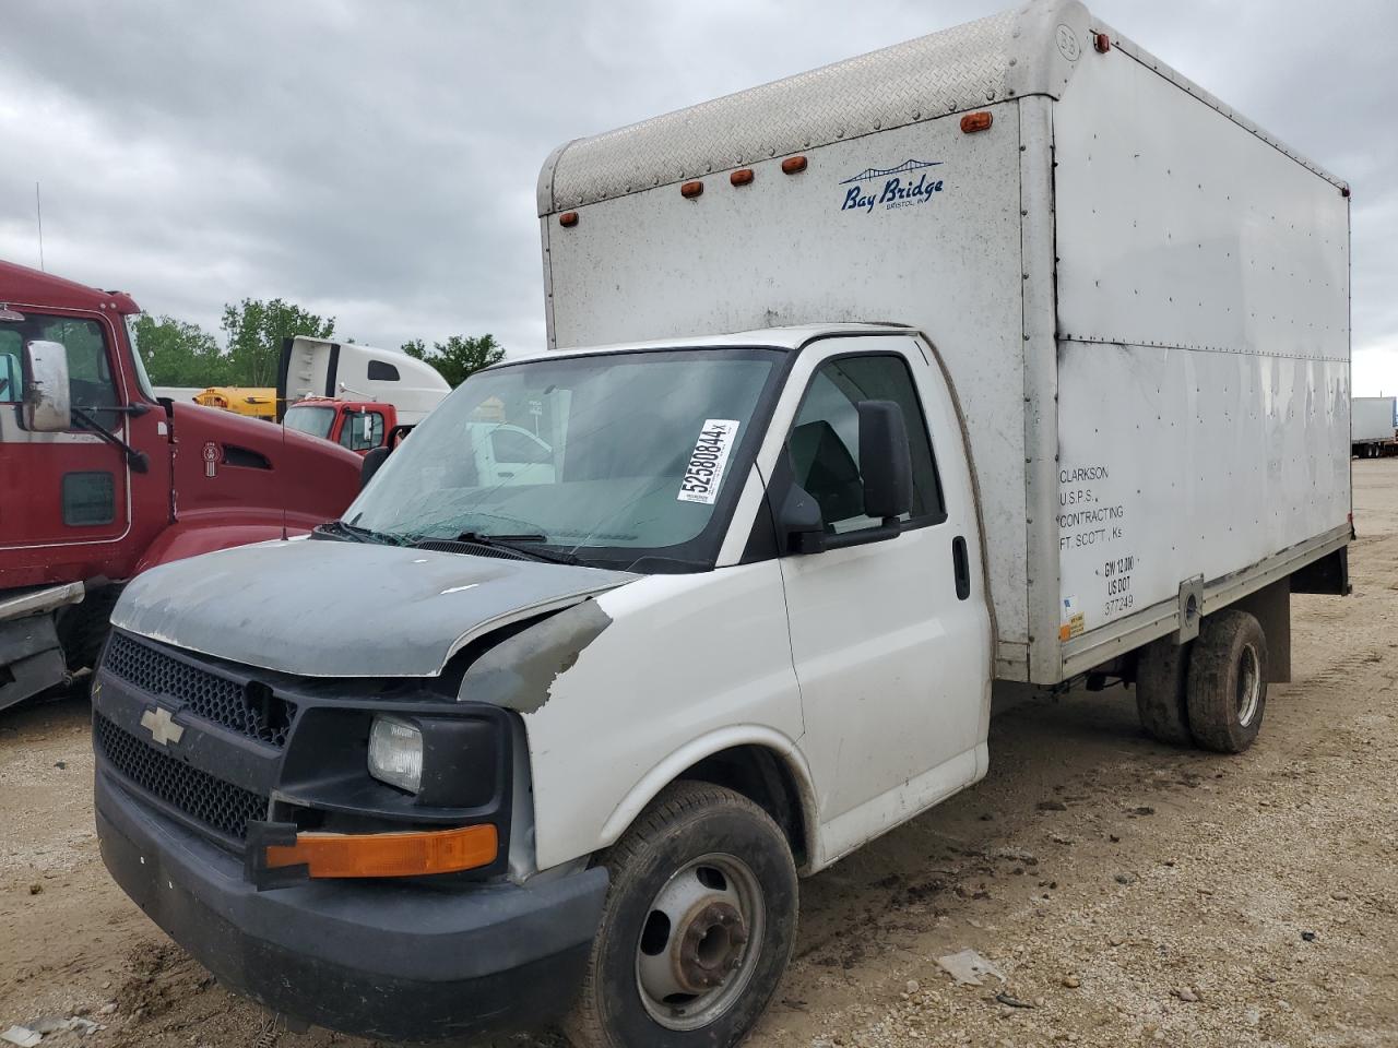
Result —
[[359, 542], [263, 542], [134, 578], [112, 625], [299, 676], [435, 676], [492, 629], [639, 576]]

